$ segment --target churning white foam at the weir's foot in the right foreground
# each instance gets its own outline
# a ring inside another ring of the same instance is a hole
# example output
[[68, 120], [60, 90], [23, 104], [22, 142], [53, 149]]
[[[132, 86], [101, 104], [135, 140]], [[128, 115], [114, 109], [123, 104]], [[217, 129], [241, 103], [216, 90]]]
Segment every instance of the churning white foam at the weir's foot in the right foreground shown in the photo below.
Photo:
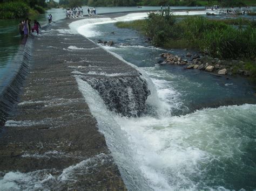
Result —
[[[144, 176], [140, 183], [145, 184], [143, 180], [147, 180], [154, 190], [198, 189], [193, 178], [206, 180], [205, 171], [211, 170], [212, 162], [239, 159], [243, 153], [241, 142], [250, 139], [235, 135], [240, 125], [244, 125], [243, 121], [255, 124], [252, 114], [256, 112], [256, 105], [249, 104], [203, 109], [185, 116], [120, 117], [106, 110], [104, 102], [93, 93], [95, 90], [89, 84], [79, 79], [77, 82], [118, 165], [124, 166], [124, 162], [132, 160], [131, 165], [139, 169], [133, 173]], [[164, 81], [157, 84], [166, 86]], [[120, 155], [126, 158], [120, 161]], [[126, 169], [131, 167], [128, 165]], [[136, 184], [134, 179], [129, 181], [135, 183], [127, 182], [123, 171], [122, 175], [129, 185]]]

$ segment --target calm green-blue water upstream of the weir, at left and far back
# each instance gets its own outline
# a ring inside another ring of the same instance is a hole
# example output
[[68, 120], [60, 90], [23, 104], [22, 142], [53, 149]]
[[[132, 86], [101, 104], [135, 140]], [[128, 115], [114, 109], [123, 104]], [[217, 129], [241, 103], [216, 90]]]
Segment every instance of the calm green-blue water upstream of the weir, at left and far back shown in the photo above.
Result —
[[[180, 7], [173, 7], [172, 9], [181, 9]], [[187, 8], [186, 8], [187, 9]], [[195, 8], [188, 8], [195, 9]], [[83, 6], [84, 15], [87, 15], [87, 7]], [[97, 8], [97, 13], [114, 13], [114, 12], [124, 12], [124, 11], [145, 11], [145, 10], [159, 10], [159, 7], [156, 6], [144, 6], [142, 9], [137, 7], [114, 7], [114, 8]], [[43, 15], [35, 16], [30, 18], [31, 25], [34, 19], [37, 19], [41, 26], [44, 26], [48, 23], [47, 16], [52, 14], [53, 23], [64, 19], [65, 10], [64, 9], [50, 9], [45, 12]], [[16, 55], [19, 48], [22, 48], [26, 42], [26, 39], [22, 39], [18, 33], [18, 24], [20, 19], [12, 20], [0, 20], [0, 80], [1, 76], [8, 73], [7, 65], [12, 62], [14, 56]]]

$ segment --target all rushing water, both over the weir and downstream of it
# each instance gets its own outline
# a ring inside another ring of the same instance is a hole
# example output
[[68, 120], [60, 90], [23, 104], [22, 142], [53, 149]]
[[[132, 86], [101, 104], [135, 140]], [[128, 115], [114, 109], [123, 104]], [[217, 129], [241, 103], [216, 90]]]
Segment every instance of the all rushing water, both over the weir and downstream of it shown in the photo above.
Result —
[[[133, 16], [123, 18], [144, 14]], [[251, 84], [160, 68], [156, 63], [166, 50], [117, 29], [117, 20], [56, 25], [36, 39], [36, 61], [42, 52], [52, 60], [30, 74], [28, 97], [6, 122], [10, 143], [0, 144], [0, 186], [125, 189], [124, 181], [129, 190], [255, 189], [256, 108], [242, 104], [255, 100]], [[77, 31], [95, 42], [114, 40], [104, 47], [112, 55]], [[242, 105], [207, 108], [235, 97]]]

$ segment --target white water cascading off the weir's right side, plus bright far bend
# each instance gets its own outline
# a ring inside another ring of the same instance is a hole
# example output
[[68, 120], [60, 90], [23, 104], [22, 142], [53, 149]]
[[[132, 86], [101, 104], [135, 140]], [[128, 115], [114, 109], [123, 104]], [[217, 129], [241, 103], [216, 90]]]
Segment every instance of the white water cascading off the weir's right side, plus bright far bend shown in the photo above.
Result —
[[[90, 36], [87, 28], [89, 25], [86, 20], [83, 22], [84, 26], [78, 28], [79, 33], [84, 36], [89, 34], [87, 37], [98, 35], [97, 31]], [[97, 24], [104, 21], [96, 19], [93, 22]], [[115, 21], [110, 19], [107, 22]], [[90, 26], [89, 30], [94, 31], [92, 25]], [[117, 49], [106, 48], [108, 51]], [[112, 54], [122, 59], [117, 53]], [[185, 101], [181, 99], [184, 92], [178, 91], [174, 84], [166, 79], [179, 77], [187, 86], [202, 85], [190, 82], [183, 76], [165, 74], [163, 70], [158, 72], [156, 68], [137, 68], [147, 80], [151, 95], [146, 101], [149, 111], [144, 116], [136, 118], [122, 117], [109, 112], [97, 91], [86, 82], [77, 79], [79, 89], [93, 116], [97, 118], [99, 130], [106, 137], [107, 145], [127, 188], [245, 188], [250, 181], [247, 184], [239, 181], [248, 176], [248, 173], [253, 173], [251, 166], [254, 152], [250, 153], [250, 145], [253, 144], [255, 136], [252, 132], [256, 126], [256, 105], [232, 105], [173, 116], [173, 111], [185, 108]], [[252, 185], [253, 183], [248, 185], [248, 188], [253, 188]]]

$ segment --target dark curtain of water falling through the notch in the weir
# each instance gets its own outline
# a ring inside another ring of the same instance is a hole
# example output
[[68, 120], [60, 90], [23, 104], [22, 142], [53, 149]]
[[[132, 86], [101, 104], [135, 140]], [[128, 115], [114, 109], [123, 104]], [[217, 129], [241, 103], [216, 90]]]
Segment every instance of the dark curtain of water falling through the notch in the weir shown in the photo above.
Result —
[[140, 76], [83, 77], [104, 100], [107, 109], [122, 116], [140, 116], [150, 91]]

